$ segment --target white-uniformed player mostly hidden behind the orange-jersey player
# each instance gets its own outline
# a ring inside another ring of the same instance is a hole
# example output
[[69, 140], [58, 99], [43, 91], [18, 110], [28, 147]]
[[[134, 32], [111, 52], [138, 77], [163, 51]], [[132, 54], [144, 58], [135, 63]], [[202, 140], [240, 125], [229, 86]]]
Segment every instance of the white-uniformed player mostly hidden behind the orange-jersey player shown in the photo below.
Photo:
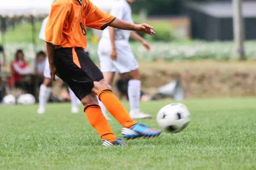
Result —
[[[44, 36], [44, 30], [47, 24], [48, 17], [46, 17], [43, 20], [42, 26], [41, 26], [41, 31], [39, 34], [39, 38], [41, 40], [45, 41], [45, 36]], [[49, 99], [49, 96], [51, 94], [52, 88], [51, 88], [51, 76], [50, 76], [50, 69], [49, 69], [49, 62], [48, 62], [48, 57], [45, 62], [44, 66], [44, 83], [40, 86], [40, 91], [39, 91], [39, 108], [38, 108], [38, 114], [43, 114], [45, 112], [45, 106], [47, 104], [47, 101]], [[58, 77], [55, 77], [58, 79]], [[76, 95], [73, 93], [73, 91], [69, 89], [70, 92], [70, 99], [71, 99], [71, 113], [78, 113], [79, 112], [79, 99], [76, 97]]]

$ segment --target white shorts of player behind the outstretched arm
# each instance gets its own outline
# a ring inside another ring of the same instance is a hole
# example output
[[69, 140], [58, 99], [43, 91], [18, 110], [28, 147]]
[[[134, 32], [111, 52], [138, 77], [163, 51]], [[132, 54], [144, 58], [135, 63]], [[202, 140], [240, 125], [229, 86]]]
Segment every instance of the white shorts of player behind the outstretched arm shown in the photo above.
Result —
[[98, 55], [100, 70], [102, 72], [128, 73], [139, 68], [138, 62], [131, 51], [129, 42], [118, 40], [116, 43], [117, 59], [110, 58], [111, 42], [107, 38], [101, 38], [99, 41]]

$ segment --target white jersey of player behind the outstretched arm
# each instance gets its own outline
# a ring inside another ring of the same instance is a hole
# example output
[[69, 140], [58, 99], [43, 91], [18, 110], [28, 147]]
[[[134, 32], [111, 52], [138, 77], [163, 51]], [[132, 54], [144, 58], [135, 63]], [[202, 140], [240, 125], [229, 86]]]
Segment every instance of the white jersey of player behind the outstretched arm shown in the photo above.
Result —
[[[120, 20], [127, 21], [129, 23], [134, 23], [131, 15], [131, 6], [126, 0], [119, 0], [115, 6], [110, 11], [110, 14], [115, 16]], [[129, 40], [131, 31], [121, 30], [115, 28], [115, 40]], [[108, 27], [102, 32], [102, 37], [109, 37]]]

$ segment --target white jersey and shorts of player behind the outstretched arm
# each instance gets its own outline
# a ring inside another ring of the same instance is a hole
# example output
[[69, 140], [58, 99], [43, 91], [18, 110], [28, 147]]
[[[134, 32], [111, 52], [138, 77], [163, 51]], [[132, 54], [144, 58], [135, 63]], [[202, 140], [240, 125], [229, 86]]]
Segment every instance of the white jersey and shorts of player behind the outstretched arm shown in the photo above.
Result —
[[[125, 20], [129, 23], [134, 23], [131, 17], [131, 7], [125, 0], [119, 0], [116, 6], [111, 9], [111, 14], [115, 17]], [[132, 70], [139, 68], [139, 65], [134, 58], [131, 51], [129, 38], [131, 31], [115, 29], [115, 45], [117, 52], [117, 59], [112, 60], [111, 53], [111, 40], [109, 29], [106, 28], [102, 32], [102, 38], [99, 42], [98, 54], [100, 59], [100, 69], [102, 72], [115, 72], [128, 73]]]

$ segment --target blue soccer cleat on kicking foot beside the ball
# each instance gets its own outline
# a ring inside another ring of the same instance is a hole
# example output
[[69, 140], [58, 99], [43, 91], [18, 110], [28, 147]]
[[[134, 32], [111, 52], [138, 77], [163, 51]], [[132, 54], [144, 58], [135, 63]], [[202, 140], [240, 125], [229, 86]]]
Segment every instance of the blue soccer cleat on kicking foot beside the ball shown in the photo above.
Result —
[[159, 136], [162, 130], [151, 129], [148, 125], [137, 123], [130, 128], [122, 127], [122, 136], [126, 140], [139, 137], [152, 138]]

